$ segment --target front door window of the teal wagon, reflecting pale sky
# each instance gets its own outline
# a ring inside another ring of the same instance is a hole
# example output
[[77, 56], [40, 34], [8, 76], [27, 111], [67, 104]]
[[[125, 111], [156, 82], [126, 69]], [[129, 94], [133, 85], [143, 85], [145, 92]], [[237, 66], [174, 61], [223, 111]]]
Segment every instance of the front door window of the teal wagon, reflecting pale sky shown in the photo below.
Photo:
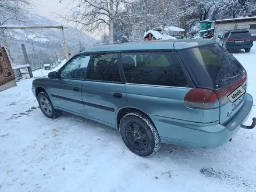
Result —
[[63, 68], [61, 77], [67, 79], [85, 79], [90, 58], [90, 55], [77, 56], [76, 58], [73, 58]]

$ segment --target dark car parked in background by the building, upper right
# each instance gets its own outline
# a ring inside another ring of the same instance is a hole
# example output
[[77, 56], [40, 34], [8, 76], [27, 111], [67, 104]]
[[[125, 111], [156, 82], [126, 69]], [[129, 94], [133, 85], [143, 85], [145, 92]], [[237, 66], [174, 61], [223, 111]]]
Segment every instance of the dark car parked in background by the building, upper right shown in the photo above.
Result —
[[244, 49], [250, 52], [253, 47], [253, 36], [248, 30], [230, 30], [223, 36], [219, 35], [218, 39], [219, 44], [228, 51]]

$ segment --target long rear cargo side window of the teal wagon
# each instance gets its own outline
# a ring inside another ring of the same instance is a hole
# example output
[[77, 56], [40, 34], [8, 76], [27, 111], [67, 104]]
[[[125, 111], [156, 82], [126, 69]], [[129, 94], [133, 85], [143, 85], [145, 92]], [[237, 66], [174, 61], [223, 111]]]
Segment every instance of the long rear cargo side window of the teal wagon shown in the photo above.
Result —
[[175, 52], [121, 54], [121, 58], [128, 83], [175, 87], [188, 85]]

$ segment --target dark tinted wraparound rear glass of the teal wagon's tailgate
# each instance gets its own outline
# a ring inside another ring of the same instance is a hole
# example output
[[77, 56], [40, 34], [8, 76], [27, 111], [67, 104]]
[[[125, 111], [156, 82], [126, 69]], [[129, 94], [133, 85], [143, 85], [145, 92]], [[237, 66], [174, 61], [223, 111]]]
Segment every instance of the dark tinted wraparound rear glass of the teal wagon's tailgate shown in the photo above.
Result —
[[184, 49], [181, 52], [200, 87], [217, 90], [234, 83], [246, 72], [239, 61], [219, 44]]

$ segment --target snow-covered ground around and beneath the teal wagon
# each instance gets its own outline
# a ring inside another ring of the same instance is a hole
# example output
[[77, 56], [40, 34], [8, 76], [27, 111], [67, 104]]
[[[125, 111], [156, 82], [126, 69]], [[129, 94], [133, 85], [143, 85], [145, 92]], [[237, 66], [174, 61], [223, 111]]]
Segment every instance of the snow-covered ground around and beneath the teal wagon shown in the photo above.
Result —
[[[234, 56], [255, 103], [256, 45]], [[142, 158], [108, 126], [69, 113], [46, 118], [32, 81], [0, 93], [0, 191], [256, 191], [256, 129], [219, 148], [163, 145]], [[247, 124], [253, 116], [255, 105]]]

